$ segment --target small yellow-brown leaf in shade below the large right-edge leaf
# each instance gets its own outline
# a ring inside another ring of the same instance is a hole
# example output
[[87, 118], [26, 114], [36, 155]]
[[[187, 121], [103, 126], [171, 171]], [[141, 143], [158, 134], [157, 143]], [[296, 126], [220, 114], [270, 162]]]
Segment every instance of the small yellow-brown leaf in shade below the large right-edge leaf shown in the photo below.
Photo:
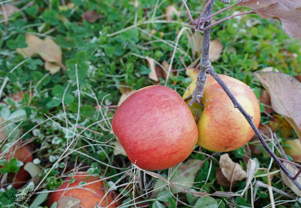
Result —
[[282, 138], [290, 138], [293, 136], [293, 133], [291, 131], [292, 127], [285, 119], [281, 118], [280, 115], [274, 114], [274, 117], [269, 122], [269, 125], [271, 125], [273, 129], [280, 130], [280, 136]]

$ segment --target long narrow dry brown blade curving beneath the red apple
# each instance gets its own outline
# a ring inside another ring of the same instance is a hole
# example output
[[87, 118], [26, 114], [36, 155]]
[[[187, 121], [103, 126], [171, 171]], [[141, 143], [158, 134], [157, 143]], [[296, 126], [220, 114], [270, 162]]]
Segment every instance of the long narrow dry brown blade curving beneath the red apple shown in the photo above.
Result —
[[154, 178], [158, 178], [158, 179], [161, 179], [163, 180], [164, 182], [166, 182], [167, 184], [171, 185], [172, 187], [175, 187], [175, 188], [178, 188], [181, 192], [183, 193], [190, 193], [190, 194], [193, 194], [194, 196], [196, 197], [201, 197], [201, 196], [224, 196], [224, 197], [230, 197], [230, 196], [240, 196], [240, 194], [235, 194], [233, 192], [223, 192], [223, 191], [216, 191], [214, 192], [213, 194], [209, 194], [209, 193], [206, 193], [206, 192], [199, 192], [199, 191], [188, 191], [184, 188], [181, 188], [180, 186], [170, 182], [170, 181], [167, 181], [165, 178], [163, 178], [162, 176], [160, 176], [158, 173], [153, 173], [151, 171], [147, 171], [147, 170], [143, 170], [141, 169], [140, 167], [138, 167], [137, 165], [135, 164], [132, 164], [136, 169], [138, 170], [142, 170], [144, 173], [150, 175], [150, 176], [153, 176]]

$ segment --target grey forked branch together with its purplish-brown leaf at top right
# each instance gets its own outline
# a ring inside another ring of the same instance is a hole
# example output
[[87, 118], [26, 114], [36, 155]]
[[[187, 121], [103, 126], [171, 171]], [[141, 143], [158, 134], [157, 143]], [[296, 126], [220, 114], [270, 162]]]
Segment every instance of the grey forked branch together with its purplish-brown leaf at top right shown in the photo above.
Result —
[[[223, 3], [230, 3], [230, 0], [228, 1], [222, 1]], [[188, 16], [191, 20], [191, 23], [195, 25], [196, 31], [203, 31], [203, 44], [202, 44], [202, 58], [200, 60], [200, 71], [197, 74], [197, 80], [195, 82], [195, 88], [193, 92], [185, 98], [185, 101], [189, 101], [188, 106], [193, 105], [195, 102], [199, 103], [200, 99], [203, 98], [203, 92], [204, 88], [206, 86], [206, 72], [209, 73], [222, 87], [222, 89], [225, 91], [225, 93], [228, 95], [230, 100], [232, 101], [234, 108], [237, 108], [243, 116], [247, 119], [247, 122], [252, 127], [255, 134], [258, 136], [260, 142], [262, 143], [263, 147], [265, 148], [266, 153], [272, 157], [275, 162], [279, 165], [279, 167], [283, 170], [283, 172], [287, 175], [289, 179], [292, 180], [292, 182], [301, 190], [301, 185], [297, 181], [297, 177], [300, 173], [296, 174], [294, 176], [290, 171], [287, 170], [287, 168], [284, 166], [284, 164], [279, 160], [279, 158], [274, 154], [274, 152], [271, 150], [271, 148], [268, 146], [268, 144], [263, 139], [262, 135], [258, 131], [256, 125], [253, 121], [253, 115], [249, 115], [247, 111], [240, 105], [240, 103], [237, 101], [237, 99], [234, 97], [234, 95], [231, 92], [231, 89], [228, 88], [227, 84], [221, 79], [221, 77], [214, 71], [213, 66], [211, 65], [211, 62], [209, 61], [209, 43], [210, 43], [210, 28], [222, 21], [228, 20], [231, 17], [235, 17], [238, 15], [243, 14], [251, 14], [256, 13], [262, 18], [266, 17], [274, 17], [281, 21], [282, 26], [284, 28], [284, 31], [294, 37], [294, 38], [301, 38], [301, 9], [300, 9], [300, 1], [253, 1], [253, 0], [240, 0], [237, 3], [230, 5], [224, 9], [221, 9], [220, 11], [212, 14], [213, 11], [213, 0], [206, 0], [206, 5], [203, 8], [203, 11], [201, 12], [197, 22], [195, 22], [190, 14], [189, 8], [184, 0], [182, 0], [183, 4], [185, 5], [185, 8], [188, 12]], [[298, 5], [299, 4], [299, 5]], [[226, 17], [222, 20], [219, 20], [213, 24], [211, 24], [211, 17], [214, 15], [225, 11], [228, 8], [231, 8], [236, 5], [245, 5], [248, 8], [250, 8], [253, 11], [250, 12], [243, 12], [239, 14], [235, 14], [229, 17]], [[275, 13], [274, 11], [278, 11]], [[259, 76], [258, 74], [256, 76]], [[214, 98], [213, 98], [214, 99]], [[258, 124], [259, 125], [259, 124]]]

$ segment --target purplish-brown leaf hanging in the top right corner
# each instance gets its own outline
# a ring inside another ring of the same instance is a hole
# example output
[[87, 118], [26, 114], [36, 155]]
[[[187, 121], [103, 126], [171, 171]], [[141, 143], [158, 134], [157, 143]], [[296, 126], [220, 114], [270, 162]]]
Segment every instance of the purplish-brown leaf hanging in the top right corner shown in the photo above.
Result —
[[241, 0], [239, 3], [256, 12], [261, 18], [273, 17], [281, 21], [287, 35], [301, 38], [300, 1]]

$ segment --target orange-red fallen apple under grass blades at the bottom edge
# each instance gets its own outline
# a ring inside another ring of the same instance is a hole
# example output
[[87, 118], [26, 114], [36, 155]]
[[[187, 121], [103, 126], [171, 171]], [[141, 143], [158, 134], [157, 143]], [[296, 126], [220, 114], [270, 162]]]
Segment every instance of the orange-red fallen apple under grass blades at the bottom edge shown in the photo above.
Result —
[[[81, 181], [90, 183], [90, 182], [99, 180], [99, 178], [96, 178], [93, 176], [88, 176], [87, 172], [78, 172], [78, 173], [76, 173], [76, 175], [73, 178], [75, 179], [75, 181], [73, 183], [69, 184], [69, 181], [71, 180], [71, 178], [68, 177], [65, 179], [67, 181], [63, 182], [61, 187], [57, 189], [57, 190], [59, 190], [59, 189], [64, 189], [64, 188], [70, 188], [70, 190], [52, 192], [47, 200], [46, 206], [50, 207], [55, 201], [58, 201], [61, 198], [64, 198], [67, 196], [73, 196], [73, 197], [78, 198], [79, 200], [84, 200], [80, 203], [81, 207], [84, 207], [84, 208], [94, 207], [96, 202], [99, 203], [102, 200], [102, 198], [103, 198], [102, 196], [105, 195], [104, 189], [107, 188], [107, 187], [104, 187], [103, 181], [94, 182], [94, 183], [91, 183], [91, 184], [88, 184], [88, 185], [85, 185], [85, 186], [82, 186], [79, 188], [72, 188], [72, 187], [78, 186]], [[100, 193], [97, 196], [93, 196], [95, 193], [99, 192], [99, 189], [102, 189], [100, 191]], [[107, 188], [107, 189], [109, 189], [109, 188]], [[108, 193], [106, 195], [107, 198], [104, 198], [98, 206], [107, 207], [114, 200], [114, 194], [115, 194], [115, 192], [110, 191], [110, 193]], [[91, 196], [93, 196], [93, 197], [91, 197]], [[90, 197], [90, 198], [88, 198], [88, 197]], [[117, 207], [117, 206], [119, 206], [118, 201], [111, 204], [109, 207], [113, 208], [113, 207]]]

